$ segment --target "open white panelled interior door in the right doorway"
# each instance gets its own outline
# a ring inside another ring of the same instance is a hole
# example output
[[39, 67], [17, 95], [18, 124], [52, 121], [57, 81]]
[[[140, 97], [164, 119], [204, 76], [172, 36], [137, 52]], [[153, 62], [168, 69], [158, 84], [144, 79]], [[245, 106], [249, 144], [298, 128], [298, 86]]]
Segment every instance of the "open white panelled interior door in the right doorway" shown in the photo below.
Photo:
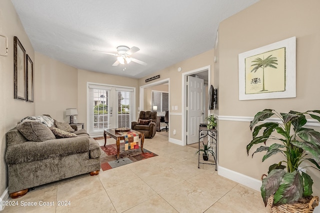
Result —
[[198, 142], [203, 123], [203, 79], [187, 76], [187, 144]]

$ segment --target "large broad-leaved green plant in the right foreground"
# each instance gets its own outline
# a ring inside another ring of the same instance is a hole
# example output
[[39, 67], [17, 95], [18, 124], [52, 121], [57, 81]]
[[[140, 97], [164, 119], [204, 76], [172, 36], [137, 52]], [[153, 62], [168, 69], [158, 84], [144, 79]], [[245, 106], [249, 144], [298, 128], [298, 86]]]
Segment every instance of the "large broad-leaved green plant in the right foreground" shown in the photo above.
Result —
[[[256, 125], [273, 115], [278, 117], [280, 122], [264, 122]], [[250, 122], [250, 130], [253, 132], [252, 140], [246, 146], [247, 154], [253, 145], [263, 144], [264, 146], [258, 147], [253, 152], [252, 158], [255, 153], [263, 151], [266, 151], [266, 154], [262, 162], [277, 153], [284, 156], [284, 160], [269, 167], [268, 175], [262, 179], [261, 196], [265, 206], [269, 197], [273, 198], [270, 208], [297, 203], [303, 198], [309, 200], [312, 198], [313, 181], [301, 170], [303, 168], [300, 168], [300, 164], [308, 161], [311, 165], [309, 168], [320, 171], [320, 133], [305, 127], [307, 122], [305, 115], [320, 122], [320, 110], [277, 113], [272, 109], [256, 113]], [[267, 140], [277, 143], [266, 146]], [[317, 206], [318, 197], [314, 198], [317, 199], [315, 201]]]

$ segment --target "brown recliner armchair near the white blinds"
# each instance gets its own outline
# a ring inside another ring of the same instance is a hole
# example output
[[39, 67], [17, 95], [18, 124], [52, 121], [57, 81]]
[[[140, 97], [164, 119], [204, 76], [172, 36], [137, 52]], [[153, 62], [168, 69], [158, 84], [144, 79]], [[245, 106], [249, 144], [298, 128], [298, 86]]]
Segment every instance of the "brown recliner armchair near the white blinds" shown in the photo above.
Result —
[[156, 132], [156, 112], [140, 111], [138, 121], [131, 122], [131, 129], [144, 134], [144, 138], [153, 138]]

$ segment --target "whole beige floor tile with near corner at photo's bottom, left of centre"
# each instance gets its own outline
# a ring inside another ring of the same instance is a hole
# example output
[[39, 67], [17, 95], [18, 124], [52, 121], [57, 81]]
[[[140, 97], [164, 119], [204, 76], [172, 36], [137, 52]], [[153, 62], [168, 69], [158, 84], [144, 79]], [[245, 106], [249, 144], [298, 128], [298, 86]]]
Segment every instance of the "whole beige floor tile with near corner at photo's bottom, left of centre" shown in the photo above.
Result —
[[106, 193], [118, 213], [126, 211], [156, 195], [140, 178], [108, 188]]

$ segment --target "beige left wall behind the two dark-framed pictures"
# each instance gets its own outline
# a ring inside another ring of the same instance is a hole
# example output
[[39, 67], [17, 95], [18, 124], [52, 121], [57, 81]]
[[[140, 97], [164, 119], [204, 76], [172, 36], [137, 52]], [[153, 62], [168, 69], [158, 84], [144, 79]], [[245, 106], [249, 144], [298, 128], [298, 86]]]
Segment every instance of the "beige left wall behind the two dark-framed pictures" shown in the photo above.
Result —
[[[34, 62], [34, 50], [10, 0], [0, 0], [0, 35], [8, 38], [8, 54], [0, 55], [0, 196], [7, 187], [4, 161], [5, 133], [25, 116], [34, 115], [34, 103], [13, 99], [13, 36]], [[36, 92], [34, 92], [36, 93]]]

